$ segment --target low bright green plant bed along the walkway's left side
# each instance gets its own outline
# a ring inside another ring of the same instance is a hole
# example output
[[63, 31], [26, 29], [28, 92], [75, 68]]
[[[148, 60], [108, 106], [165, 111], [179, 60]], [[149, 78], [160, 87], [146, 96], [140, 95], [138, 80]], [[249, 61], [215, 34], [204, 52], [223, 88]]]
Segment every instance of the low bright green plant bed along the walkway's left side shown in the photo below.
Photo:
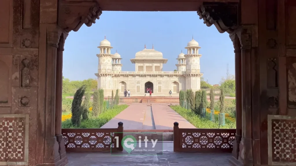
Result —
[[82, 121], [79, 127], [73, 126], [69, 120], [66, 120], [62, 122], [62, 128], [100, 128], [127, 107], [128, 105], [115, 105], [113, 109], [106, 110], [98, 117], [90, 117]]

